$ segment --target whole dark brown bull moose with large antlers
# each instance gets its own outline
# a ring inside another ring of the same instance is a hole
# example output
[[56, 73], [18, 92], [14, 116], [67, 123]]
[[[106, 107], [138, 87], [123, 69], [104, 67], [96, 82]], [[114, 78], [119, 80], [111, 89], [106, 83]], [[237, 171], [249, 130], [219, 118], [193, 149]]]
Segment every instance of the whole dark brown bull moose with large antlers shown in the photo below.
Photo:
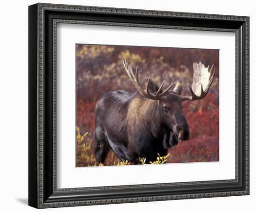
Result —
[[[163, 90], [150, 77], [143, 89], [131, 65], [123, 61], [124, 68], [136, 87], [135, 93], [125, 90], [108, 91], [95, 106], [96, 163], [104, 163], [111, 149], [120, 160], [140, 163], [155, 161], [158, 154], [164, 156], [168, 148], [189, 140], [189, 125], [182, 113], [182, 101], [204, 98], [213, 83], [215, 68], [209, 70], [201, 62], [194, 63], [191, 96], [181, 96], [182, 85], [178, 81]], [[174, 87], [173, 89], [171, 89]]]

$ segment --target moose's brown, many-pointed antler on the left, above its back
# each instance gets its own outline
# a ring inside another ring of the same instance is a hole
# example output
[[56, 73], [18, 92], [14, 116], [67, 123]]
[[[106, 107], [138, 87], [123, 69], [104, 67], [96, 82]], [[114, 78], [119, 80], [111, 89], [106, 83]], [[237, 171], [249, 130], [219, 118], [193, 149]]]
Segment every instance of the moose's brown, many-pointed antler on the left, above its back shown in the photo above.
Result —
[[146, 90], [144, 90], [141, 87], [141, 84], [139, 82], [138, 66], [136, 68], [136, 72], [135, 72], [135, 76], [134, 76], [134, 72], [132, 70], [132, 67], [131, 67], [131, 65], [128, 64], [128, 62], [126, 60], [123, 61], [123, 65], [124, 65], [124, 68], [125, 68], [125, 70], [126, 70], [126, 72], [128, 74], [128, 77], [132, 80], [132, 82], [135, 85], [135, 87], [137, 88], [137, 90], [140, 92], [140, 94], [142, 96], [144, 96], [146, 98], [153, 99], [153, 100], [158, 100], [162, 96], [166, 96], [168, 94], [168, 90], [170, 90], [170, 88], [173, 85], [173, 84], [171, 84], [166, 90], [162, 91], [162, 87], [163, 87], [163, 84], [164, 84], [164, 81], [163, 81], [161, 86], [159, 87], [159, 89], [156, 91], [155, 95], [151, 94], [149, 92], [149, 86], [148, 86], [149, 82], [151, 81], [150, 77], [148, 77], [148, 81], [147, 81], [147, 84], [146, 84]]

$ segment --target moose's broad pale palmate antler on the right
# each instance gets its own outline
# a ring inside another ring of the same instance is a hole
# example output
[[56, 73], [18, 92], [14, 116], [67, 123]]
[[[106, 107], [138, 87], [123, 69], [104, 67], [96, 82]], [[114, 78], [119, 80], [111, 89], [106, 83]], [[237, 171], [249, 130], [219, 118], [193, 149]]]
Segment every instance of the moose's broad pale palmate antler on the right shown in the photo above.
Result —
[[215, 67], [213, 68], [213, 65], [209, 71], [209, 65], [206, 68], [204, 64], [201, 63], [201, 61], [198, 63], [194, 63], [194, 77], [193, 77], [193, 83], [192, 88], [189, 85], [189, 89], [191, 91], [192, 96], [182, 96], [182, 101], [185, 100], [198, 100], [204, 98], [212, 85], [213, 77], [215, 74]]

